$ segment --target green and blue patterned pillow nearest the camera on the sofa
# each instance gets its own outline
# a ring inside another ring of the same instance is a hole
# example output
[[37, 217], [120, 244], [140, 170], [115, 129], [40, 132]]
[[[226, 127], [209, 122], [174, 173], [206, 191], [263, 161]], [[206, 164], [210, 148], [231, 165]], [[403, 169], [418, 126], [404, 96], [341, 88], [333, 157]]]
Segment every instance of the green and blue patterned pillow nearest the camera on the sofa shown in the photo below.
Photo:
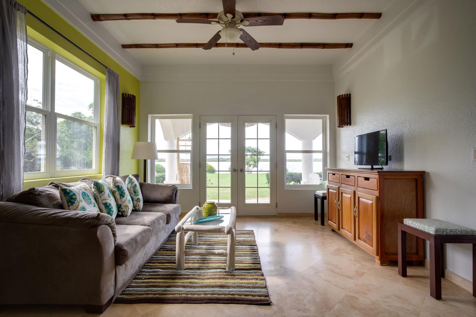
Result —
[[66, 210], [99, 212], [91, 188], [86, 183], [73, 187], [60, 186], [60, 198]]

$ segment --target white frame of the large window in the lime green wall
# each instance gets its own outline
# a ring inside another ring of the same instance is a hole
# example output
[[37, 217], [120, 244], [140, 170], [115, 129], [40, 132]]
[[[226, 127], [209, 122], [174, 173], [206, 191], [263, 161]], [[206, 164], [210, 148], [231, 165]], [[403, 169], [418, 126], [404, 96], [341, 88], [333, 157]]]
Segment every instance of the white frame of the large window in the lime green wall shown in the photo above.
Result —
[[[28, 44], [42, 51], [43, 54], [43, 100], [42, 108], [27, 106], [26, 110], [44, 115], [45, 121], [43, 131], [46, 142], [45, 151], [45, 168], [42, 172], [23, 173], [25, 180], [41, 179], [41, 178], [57, 178], [67, 176], [91, 175], [99, 173], [99, 109], [100, 109], [100, 80], [98, 77], [91, 75], [86, 70], [76, 66], [68, 59], [63, 58], [54, 50], [47, 48], [40, 43], [28, 38]], [[93, 122], [78, 119], [69, 115], [63, 115], [55, 112], [55, 66], [56, 60], [71, 67], [80, 74], [94, 81], [94, 106], [93, 106]], [[70, 121], [79, 122], [93, 127], [93, 166], [91, 169], [82, 170], [57, 170], [56, 151], [57, 138], [56, 129], [59, 118]]]

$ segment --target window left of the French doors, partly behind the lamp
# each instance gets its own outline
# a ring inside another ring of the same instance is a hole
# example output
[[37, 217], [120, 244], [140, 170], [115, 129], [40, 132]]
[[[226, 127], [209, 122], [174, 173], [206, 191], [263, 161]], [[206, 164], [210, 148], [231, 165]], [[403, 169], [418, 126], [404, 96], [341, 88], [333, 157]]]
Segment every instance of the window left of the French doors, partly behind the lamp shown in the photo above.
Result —
[[151, 138], [157, 145], [159, 159], [150, 169], [156, 184], [192, 187], [192, 115], [154, 115]]

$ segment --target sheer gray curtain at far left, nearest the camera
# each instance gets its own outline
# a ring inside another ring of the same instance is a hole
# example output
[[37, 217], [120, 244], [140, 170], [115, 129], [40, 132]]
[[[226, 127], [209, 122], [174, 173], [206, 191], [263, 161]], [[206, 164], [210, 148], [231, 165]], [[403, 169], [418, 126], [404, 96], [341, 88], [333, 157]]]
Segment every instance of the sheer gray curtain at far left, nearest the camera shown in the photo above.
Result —
[[25, 7], [0, 0], [0, 199], [23, 187], [27, 102]]

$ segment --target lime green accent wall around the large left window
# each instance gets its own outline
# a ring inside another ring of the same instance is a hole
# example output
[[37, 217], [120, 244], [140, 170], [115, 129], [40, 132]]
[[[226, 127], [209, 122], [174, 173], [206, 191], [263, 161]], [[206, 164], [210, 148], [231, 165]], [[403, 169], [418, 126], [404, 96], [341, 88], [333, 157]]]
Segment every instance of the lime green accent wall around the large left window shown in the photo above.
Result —
[[[90, 55], [97, 58], [101, 63], [119, 74], [119, 85], [121, 93], [129, 93], [136, 96], [136, 118], [139, 118], [140, 109], [140, 82], [139, 79], [132, 76], [126, 69], [121, 67], [114, 59], [109, 57], [104, 51], [98, 48], [88, 38], [82, 35], [78, 30], [72, 27], [68, 22], [62, 19], [58, 14], [51, 10], [47, 5], [38, 0], [18, 0], [33, 14], [48, 23], [51, 27], [58, 30], [65, 37], [69, 38], [80, 48], [87, 51]], [[100, 79], [100, 136], [99, 136], [99, 173], [98, 175], [78, 175], [75, 177], [48, 178], [38, 180], [28, 180], [23, 183], [23, 188], [45, 185], [50, 181], [75, 182], [82, 177], [100, 178], [102, 174], [102, 147], [104, 135], [104, 105], [105, 105], [105, 79], [106, 69], [94, 59], [90, 58], [78, 48], [70, 44], [64, 38], [48, 29], [37, 19], [27, 14], [28, 36], [42, 45], [56, 51], [62, 57], [69, 59], [79, 67], [89, 71]], [[139, 173], [139, 161], [131, 160], [132, 148], [136, 141], [139, 141], [139, 120], [136, 120], [136, 127], [129, 128], [121, 125], [121, 144], [120, 144], [120, 171], [121, 175]]]

